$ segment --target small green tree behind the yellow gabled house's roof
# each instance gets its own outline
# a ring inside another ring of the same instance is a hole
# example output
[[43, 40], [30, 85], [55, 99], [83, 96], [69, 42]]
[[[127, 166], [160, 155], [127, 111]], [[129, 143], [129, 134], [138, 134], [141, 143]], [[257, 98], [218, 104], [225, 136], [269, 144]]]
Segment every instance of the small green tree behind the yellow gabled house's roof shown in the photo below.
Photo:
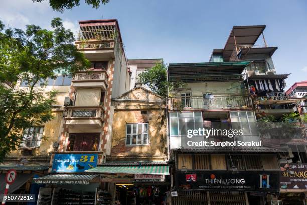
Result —
[[163, 63], [157, 63], [137, 76], [137, 80], [162, 97], [167, 96], [167, 71]]

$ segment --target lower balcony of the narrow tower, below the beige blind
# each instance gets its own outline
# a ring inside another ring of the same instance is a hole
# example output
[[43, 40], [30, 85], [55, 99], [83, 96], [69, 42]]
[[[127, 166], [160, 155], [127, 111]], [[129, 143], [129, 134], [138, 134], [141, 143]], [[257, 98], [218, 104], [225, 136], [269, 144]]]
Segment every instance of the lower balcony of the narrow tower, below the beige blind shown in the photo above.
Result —
[[104, 120], [102, 106], [67, 106], [64, 112], [65, 124], [68, 126], [101, 127]]

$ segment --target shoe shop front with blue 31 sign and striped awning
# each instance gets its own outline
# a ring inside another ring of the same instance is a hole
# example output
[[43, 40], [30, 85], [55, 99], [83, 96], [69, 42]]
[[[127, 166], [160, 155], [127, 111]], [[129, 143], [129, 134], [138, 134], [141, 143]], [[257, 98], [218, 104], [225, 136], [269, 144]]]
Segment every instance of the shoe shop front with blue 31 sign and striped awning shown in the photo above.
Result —
[[99, 204], [104, 190], [99, 174], [85, 170], [97, 166], [98, 154], [58, 153], [53, 156], [52, 168], [47, 176], [33, 179], [33, 184], [44, 184], [38, 194], [37, 204]]

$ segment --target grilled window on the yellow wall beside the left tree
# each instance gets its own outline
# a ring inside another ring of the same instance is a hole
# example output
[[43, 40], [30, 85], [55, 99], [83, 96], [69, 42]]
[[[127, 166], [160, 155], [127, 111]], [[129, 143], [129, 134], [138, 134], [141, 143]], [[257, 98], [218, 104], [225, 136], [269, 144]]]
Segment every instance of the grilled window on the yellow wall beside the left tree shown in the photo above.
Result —
[[21, 147], [39, 147], [43, 137], [44, 127], [35, 126], [24, 130]]

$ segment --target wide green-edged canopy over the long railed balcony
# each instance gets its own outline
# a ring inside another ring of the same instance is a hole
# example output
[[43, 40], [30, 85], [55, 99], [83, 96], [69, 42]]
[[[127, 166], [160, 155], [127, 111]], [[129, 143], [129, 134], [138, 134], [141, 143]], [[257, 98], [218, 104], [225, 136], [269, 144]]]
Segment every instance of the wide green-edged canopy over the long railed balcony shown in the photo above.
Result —
[[240, 80], [244, 68], [251, 61], [170, 63], [169, 81], [210, 82]]

